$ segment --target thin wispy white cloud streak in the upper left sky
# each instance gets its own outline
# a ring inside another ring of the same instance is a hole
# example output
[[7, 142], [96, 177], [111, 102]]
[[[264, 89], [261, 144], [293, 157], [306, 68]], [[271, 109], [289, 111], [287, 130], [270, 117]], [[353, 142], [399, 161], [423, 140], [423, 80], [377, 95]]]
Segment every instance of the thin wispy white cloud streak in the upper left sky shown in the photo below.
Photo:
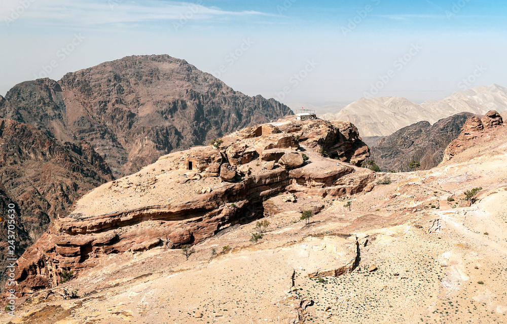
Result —
[[[27, 0], [27, 8], [20, 9], [16, 0], [4, 0], [0, 19], [21, 11], [19, 20], [35, 25], [67, 25], [89, 27], [104, 24], [140, 23], [156, 21], [210, 20], [248, 16], [274, 16], [258, 11], [226, 11], [188, 2], [148, 0]], [[16, 14], [14, 14], [16, 16]]]

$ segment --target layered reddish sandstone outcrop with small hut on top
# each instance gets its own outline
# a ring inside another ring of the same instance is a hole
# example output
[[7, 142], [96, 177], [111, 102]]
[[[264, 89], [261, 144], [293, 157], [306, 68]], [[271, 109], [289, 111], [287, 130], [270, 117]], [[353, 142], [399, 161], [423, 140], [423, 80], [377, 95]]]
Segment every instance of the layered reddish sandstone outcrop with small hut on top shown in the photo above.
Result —
[[[73, 213], [55, 220], [18, 260], [21, 292], [54, 287], [62, 271], [79, 273], [105, 255], [196, 244], [262, 217], [264, 201], [282, 191], [320, 197], [361, 192], [375, 179], [372, 171], [318, 152], [323, 146], [350, 161], [367, 156], [355, 128], [343, 125], [349, 133], [342, 134], [328, 121], [294, 118], [262, 127], [267, 134], [256, 132], [259, 127], [245, 129], [222, 138], [220, 147], [171, 153], [134, 175], [100, 186], [80, 199]], [[254, 157], [248, 153], [241, 158], [253, 147]], [[267, 171], [260, 157], [271, 150], [294, 152], [281, 156], [283, 168], [275, 168], [273, 161]], [[309, 156], [304, 166], [301, 151]]]

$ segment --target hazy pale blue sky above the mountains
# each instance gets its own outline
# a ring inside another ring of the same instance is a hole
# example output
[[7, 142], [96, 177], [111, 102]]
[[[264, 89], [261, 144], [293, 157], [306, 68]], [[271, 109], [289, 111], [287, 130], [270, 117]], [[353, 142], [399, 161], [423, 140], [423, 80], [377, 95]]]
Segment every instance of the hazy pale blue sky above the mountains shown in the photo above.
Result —
[[507, 86], [506, 18], [507, 3], [488, 0], [2, 0], [0, 94], [168, 54], [284, 103], [441, 99]]

